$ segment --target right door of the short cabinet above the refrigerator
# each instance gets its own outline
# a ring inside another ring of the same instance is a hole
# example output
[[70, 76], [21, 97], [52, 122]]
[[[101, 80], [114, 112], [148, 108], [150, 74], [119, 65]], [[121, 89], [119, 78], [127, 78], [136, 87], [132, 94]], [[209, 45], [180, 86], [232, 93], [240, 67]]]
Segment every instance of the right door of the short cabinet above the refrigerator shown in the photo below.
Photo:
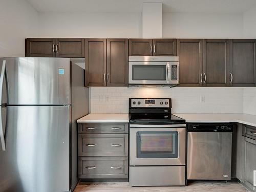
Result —
[[56, 39], [56, 57], [84, 57], [84, 39]]

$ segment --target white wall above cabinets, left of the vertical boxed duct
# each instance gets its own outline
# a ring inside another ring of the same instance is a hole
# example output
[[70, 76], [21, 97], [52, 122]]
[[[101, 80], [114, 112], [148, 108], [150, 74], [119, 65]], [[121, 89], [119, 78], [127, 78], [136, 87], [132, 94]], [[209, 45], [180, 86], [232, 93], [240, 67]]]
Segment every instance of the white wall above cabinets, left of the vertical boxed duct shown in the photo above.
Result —
[[141, 13], [39, 13], [39, 37], [141, 37]]

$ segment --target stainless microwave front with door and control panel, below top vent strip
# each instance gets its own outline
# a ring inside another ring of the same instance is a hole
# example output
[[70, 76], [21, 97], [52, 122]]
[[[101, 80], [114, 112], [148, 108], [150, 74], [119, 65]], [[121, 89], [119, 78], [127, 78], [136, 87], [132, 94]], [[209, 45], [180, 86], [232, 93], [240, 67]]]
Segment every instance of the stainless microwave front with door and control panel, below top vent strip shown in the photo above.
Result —
[[129, 84], [178, 84], [179, 62], [129, 62]]

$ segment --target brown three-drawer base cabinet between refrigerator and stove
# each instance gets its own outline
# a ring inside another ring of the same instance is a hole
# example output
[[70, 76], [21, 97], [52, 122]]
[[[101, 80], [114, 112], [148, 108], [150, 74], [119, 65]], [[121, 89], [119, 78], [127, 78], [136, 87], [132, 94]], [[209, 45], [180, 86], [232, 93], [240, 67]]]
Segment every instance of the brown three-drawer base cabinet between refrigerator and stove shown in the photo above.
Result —
[[128, 178], [128, 123], [78, 124], [78, 178]]

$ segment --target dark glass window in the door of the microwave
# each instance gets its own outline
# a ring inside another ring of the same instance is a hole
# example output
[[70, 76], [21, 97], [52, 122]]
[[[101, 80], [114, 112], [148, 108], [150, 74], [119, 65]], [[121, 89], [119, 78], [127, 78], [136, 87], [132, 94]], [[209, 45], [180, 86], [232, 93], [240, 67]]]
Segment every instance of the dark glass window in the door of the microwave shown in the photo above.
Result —
[[166, 65], [133, 65], [133, 80], [166, 80]]

